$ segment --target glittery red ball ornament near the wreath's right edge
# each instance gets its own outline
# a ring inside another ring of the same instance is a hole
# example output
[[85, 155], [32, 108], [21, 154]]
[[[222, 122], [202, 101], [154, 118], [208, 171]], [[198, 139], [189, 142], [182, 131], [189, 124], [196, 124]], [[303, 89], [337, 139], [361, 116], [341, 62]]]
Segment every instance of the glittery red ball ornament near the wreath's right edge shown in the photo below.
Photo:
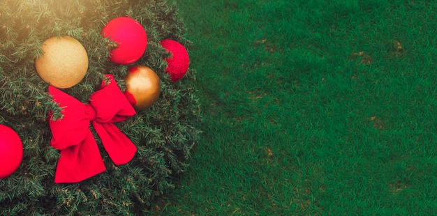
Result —
[[165, 59], [168, 64], [165, 71], [172, 77], [172, 82], [182, 79], [190, 65], [188, 52], [184, 45], [170, 39], [161, 40], [161, 45], [171, 53], [170, 58]]

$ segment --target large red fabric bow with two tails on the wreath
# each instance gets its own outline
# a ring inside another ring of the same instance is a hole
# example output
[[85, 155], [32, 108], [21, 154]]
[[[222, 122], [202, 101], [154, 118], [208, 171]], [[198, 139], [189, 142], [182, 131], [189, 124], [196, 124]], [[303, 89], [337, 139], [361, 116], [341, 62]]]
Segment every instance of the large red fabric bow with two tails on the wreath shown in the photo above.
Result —
[[[60, 150], [54, 183], [77, 183], [105, 171], [100, 151], [89, 123], [102, 140], [114, 164], [121, 165], [131, 161], [137, 147], [113, 123], [124, 121], [135, 115], [135, 109], [120, 91], [112, 75], [103, 80], [101, 89], [91, 94], [85, 105], [59, 89], [49, 86], [53, 100], [63, 108], [63, 118], [52, 121], [51, 145]], [[109, 82], [109, 83], [108, 83]]]

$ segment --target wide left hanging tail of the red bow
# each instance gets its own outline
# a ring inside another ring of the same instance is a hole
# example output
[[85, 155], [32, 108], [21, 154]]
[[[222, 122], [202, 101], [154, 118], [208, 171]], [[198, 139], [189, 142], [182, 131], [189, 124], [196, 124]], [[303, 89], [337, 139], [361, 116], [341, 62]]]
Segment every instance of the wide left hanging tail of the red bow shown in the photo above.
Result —
[[78, 183], [105, 170], [96, 140], [89, 132], [82, 144], [61, 150], [54, 183]]

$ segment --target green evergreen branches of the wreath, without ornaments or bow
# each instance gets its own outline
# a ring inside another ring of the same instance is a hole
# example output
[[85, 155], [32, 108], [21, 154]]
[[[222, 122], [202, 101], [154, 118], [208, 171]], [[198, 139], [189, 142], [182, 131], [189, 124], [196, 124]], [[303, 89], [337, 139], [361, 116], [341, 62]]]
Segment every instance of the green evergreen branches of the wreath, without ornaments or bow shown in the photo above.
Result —
[[[82, 82], [63, 91], [87, 102], [105, 75], [113, 75], [121, 91], [131, 65], [108, 60], [117, 47], [101, 29], [115, 17], [131, 17], [147, 32], [147, 49], [135, 64], [147, 65], [161, 79], [161, 94], [151, 107], [115, 123], [138, 148], [133, 159], [117, 166], [102, 147], [106, 171], [79, 183], [54, 183], [59, 151], [50, 146], [47, 113], [61, 118], [62, 107], [48, 93], [34, 60], [43, 41], [70, 36], [86, 49], [89, 67]], [[164, 39], [185, 47], [190, 42], [174, 3], [165, 0], [0, 1], [0, 124], [22, 139], [20, 167], [0, 179], [0, 215], [131, 215], [142, 213], [156, 196], [174, 187], [174, 177], [187, 167], [198, 141], [200, 105], [195, 97], [195, 70], [172, 82], [165, 72], [171, 54]], [[1, 164], [0, 164], [1, 166]]]

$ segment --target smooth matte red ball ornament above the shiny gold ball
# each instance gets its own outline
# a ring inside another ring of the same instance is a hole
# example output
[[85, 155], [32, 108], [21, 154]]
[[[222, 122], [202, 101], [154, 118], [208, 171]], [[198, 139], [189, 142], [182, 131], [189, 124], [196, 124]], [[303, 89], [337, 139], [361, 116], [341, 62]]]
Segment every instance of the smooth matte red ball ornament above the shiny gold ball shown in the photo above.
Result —
[[130, 17], [117, 17], [102, 29], [101, 34], [118, 43], [110, 51], [110, 61], [119, 64], [134, 63], [141, 58], [147, 47], [147, 34], [142, 25]]

